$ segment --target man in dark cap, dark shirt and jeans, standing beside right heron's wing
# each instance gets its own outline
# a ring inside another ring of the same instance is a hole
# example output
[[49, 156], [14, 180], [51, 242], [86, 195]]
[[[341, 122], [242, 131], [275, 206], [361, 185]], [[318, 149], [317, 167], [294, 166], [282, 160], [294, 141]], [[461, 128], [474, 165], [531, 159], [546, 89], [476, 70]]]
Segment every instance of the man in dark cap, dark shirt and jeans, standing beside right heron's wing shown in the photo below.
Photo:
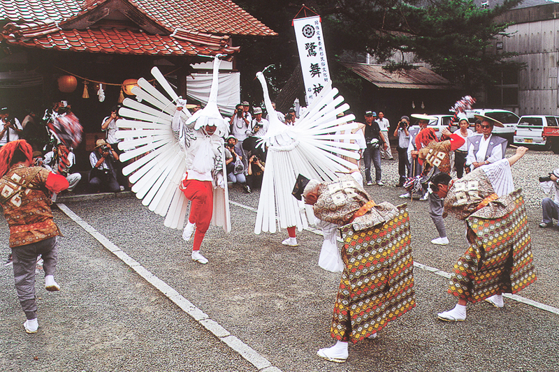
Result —
[[365, 112], [365, 141], [367, 142], [367, 148], [365, 149], [363, 158], [365, 160], [365, 180], [367, 181], [367, 186], [372, 185], [371, 161], [373, 165], [375, 165], [375, 181], [377, 185], [384, 185], [382, 183], [382, 171], [380, 168], [380, 150], [386, 150], [388, 144], [386, 144], [384, 135], [380, 131], [379, 124], [377, 121], [373, 120], [375, 116], [375, 112]]

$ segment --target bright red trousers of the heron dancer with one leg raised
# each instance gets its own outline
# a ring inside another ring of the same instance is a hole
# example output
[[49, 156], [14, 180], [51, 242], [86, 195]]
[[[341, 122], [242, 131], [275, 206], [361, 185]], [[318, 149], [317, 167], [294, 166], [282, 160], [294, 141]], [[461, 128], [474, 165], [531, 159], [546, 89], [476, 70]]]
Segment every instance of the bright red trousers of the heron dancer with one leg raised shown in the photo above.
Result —
[[199, 251], [205, 232], [208, 231], [212, 221], [214, 188], [211, 181], [197, 179], [187, 179], [182, 181], [182, 184], [185, 187], [182, 190], [184, 196], [191, 201], [188, 221], [196, 224], [192, 251]]

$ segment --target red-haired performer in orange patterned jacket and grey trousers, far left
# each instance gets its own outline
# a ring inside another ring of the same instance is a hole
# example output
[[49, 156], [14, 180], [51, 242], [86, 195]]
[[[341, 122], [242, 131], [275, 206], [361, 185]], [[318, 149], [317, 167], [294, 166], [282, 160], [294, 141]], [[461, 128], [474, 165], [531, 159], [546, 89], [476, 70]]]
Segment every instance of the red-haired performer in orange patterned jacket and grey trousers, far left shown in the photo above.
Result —
[[35, 269], [38, 255], [43, 258], [45, 289], [60, 290], [55, 281], [58, 258], [57, 236], [52, 221], [48, 191], [59, 193], [68, 181], [45, 168], [32, 166], [31, 145], [11, 141], [0, 149], [0, 204], [10, 228], [15, 290], [27, 320], [25, 332], [38, 329]]

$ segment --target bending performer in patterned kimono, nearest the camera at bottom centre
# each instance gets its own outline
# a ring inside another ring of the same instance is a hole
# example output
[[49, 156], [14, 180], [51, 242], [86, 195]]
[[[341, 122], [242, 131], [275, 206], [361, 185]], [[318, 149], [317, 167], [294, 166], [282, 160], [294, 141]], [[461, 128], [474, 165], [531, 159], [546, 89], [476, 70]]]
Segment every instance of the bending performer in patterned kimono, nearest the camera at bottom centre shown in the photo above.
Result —
[[341, 226], [344, 270], [331, 325], [337, 343], [317, 355], [342, 363], [349, 341], [375, 338], [388, 322], [415, 306], [409, 214], [405, 204], [375, 204], [350, 176], [308, 181], [303, 197], [317, 218]]

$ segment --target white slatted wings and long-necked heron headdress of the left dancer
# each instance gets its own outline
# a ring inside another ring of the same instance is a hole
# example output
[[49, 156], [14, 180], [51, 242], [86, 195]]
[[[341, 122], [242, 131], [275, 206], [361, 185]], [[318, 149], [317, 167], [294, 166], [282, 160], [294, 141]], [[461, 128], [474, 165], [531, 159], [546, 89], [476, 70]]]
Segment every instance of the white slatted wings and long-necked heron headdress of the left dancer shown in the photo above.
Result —
[[[182, 121], [194, 126], [191, 119], [207, 121], [208, 116], [215, 117], [215, 112], [219, 115], [217, 103], [211, 101], [212, 98], [217, 101], [218, 71], [219, 59], [216, 57], [210, 101], [206, 106], [209, 111], [205, 107], [196, 112], [195, 117], [191, 117], [190, 112], [184, 108], [180, 112]], [[138, 87], [132, 89], [138, 101], [124, 99], [124, 107], [119, 110], [119, 116], [125, 119], [117, 121], [116, 133], [117, 138], [123, 140], [119, 142], [119, 149], [125, 151], [120, 160], [135, 160], [126, 165], [122, 172], [129, 176], [129, 181], [133, 184], [132, 191], [142, 200], [142, 204], [165, 217], [165, 226], [182, 229], [188, 200], [180, 191], [179, 185], [187, 171], [187, 158], [171, 128], [176, 111], [175, 102], [179, 97], [157, 67], [152, 68], [152, 75], [170, 99], [143, 78], [138, 80]], [[224, 121], [221, 115], [219, 118]], [[191, 131], [191, 128], [187, 128], [188, 130]], [[225, 159], [223, 149], [222, 159]], [[226, 182], [225, 188], [218, 187], [214, 191], [212, 225], [221, 226], [226, 232], [231, 231]]]

